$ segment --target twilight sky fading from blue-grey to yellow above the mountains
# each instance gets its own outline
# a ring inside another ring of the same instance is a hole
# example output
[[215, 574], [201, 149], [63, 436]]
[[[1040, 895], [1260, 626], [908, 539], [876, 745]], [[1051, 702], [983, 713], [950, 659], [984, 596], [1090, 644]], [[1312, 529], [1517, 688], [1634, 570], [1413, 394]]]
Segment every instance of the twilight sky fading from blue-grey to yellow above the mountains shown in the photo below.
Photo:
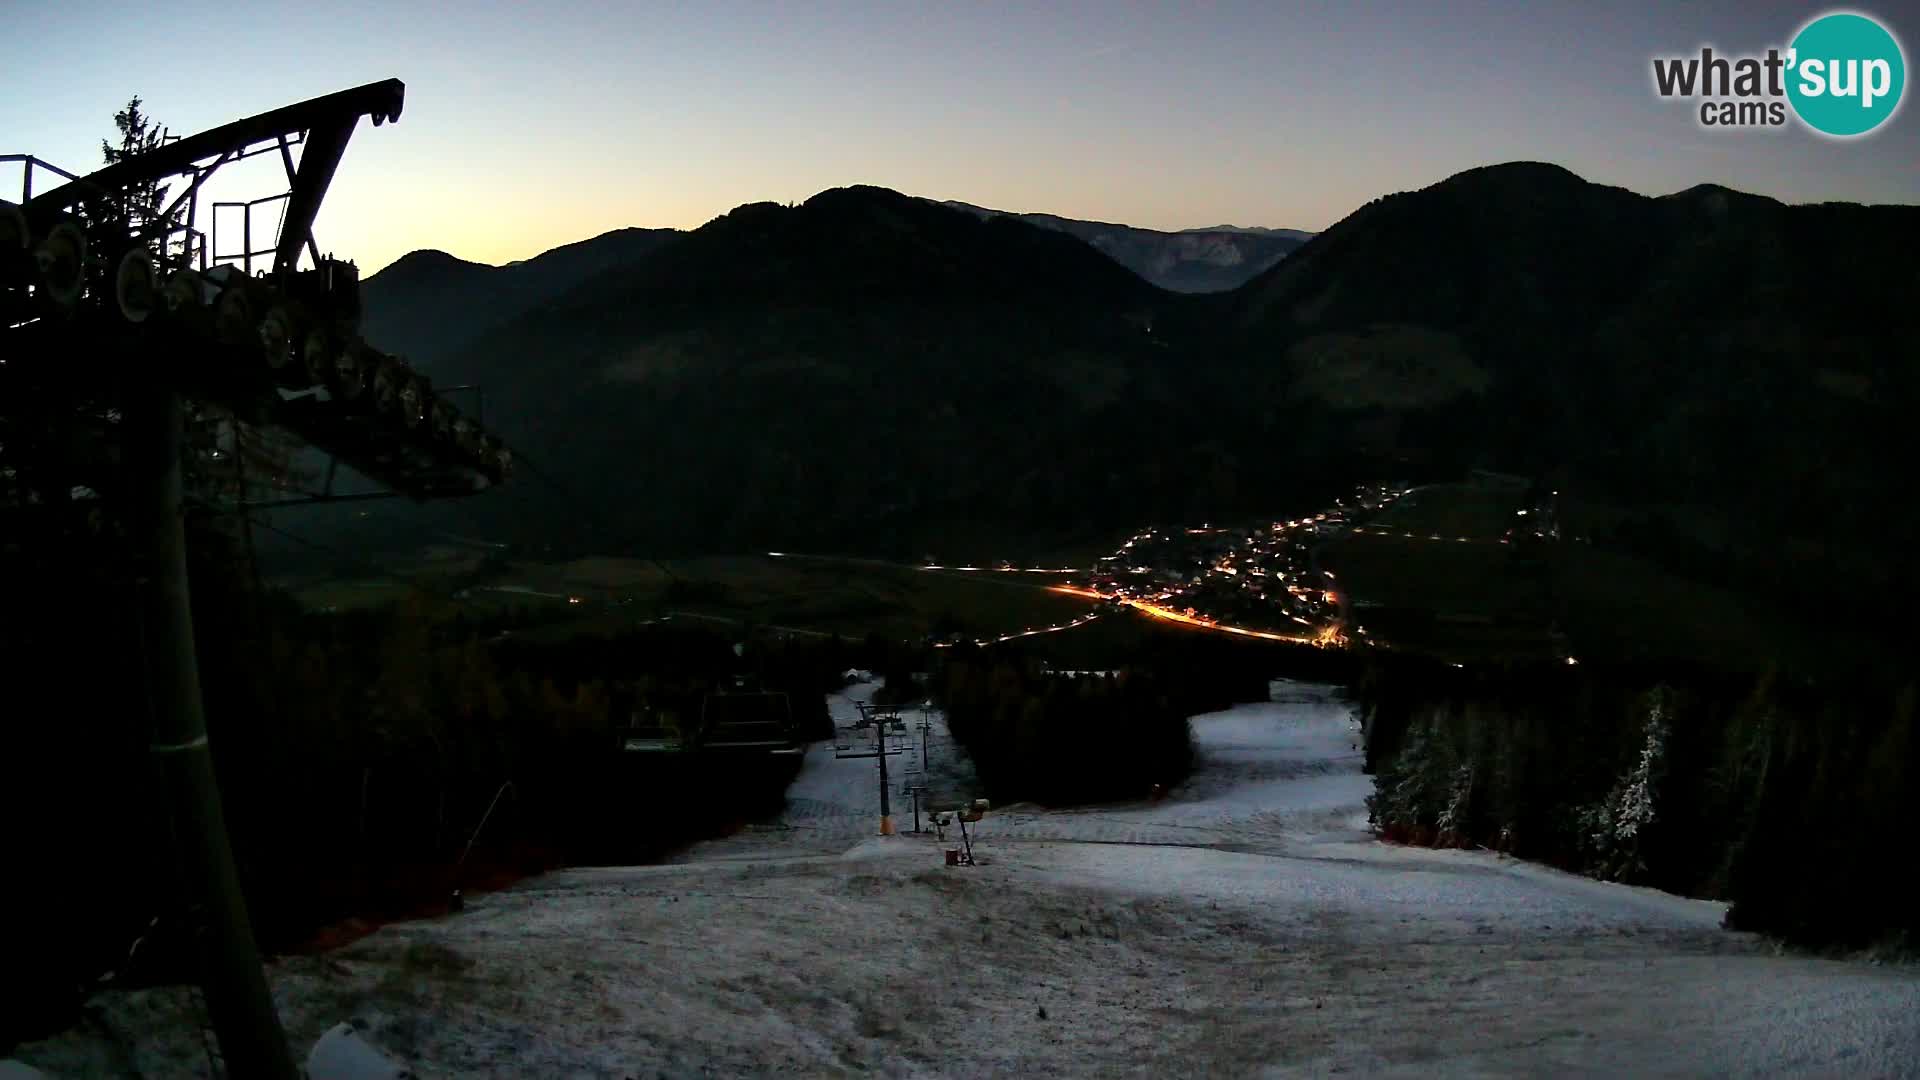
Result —
[[[19, 2], [0, 35], [0, 152], [86, 171], [134, 92], [186, 135], [399, 77], [405, 115], [361, 123], [317, 225], [363, 271], [415, 248], [499, 263], [852, 183], [1152, 229], [1325, 229], [1511, 160], [1647, 194], [1713, 181], [1920, 202], [1910, 102], [1866, 140], [1830, 142], [1701, 131], [1651, 90], [1657, 54], [1784, 46], [1830, 8], [1630, 8]], [[1914, 65], [1920, 13], [1853, 10]], [[0, 167], [0, 196], [17, 184]]]

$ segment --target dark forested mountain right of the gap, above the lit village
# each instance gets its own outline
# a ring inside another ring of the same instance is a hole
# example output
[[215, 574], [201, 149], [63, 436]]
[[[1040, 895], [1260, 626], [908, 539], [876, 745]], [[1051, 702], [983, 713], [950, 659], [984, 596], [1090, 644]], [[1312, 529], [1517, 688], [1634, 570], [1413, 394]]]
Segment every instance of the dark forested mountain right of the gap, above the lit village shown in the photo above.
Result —
[[1912, 521], [1887, 494], [1916, 450], [1916, 242], [1910, 206], [1494, 165], [1361, 208], [1238, 290], [1235, 325], [1258, 394], [1327, 440], [1711, 507], [1837, 557]]

